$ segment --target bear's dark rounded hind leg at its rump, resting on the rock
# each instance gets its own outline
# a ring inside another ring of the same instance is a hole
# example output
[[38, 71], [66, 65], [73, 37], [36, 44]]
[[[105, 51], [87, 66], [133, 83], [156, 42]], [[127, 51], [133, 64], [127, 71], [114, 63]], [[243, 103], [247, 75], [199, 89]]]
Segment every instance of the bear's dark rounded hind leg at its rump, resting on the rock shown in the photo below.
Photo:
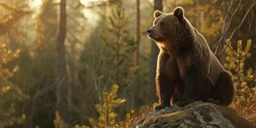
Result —
[[219, 100], [220, 105], [228, 106], [232, 103], [235, 96], [234, 82], [232, 74], [228, 71], [221, 72], [218, 82], [215, 85], [212, 98]]

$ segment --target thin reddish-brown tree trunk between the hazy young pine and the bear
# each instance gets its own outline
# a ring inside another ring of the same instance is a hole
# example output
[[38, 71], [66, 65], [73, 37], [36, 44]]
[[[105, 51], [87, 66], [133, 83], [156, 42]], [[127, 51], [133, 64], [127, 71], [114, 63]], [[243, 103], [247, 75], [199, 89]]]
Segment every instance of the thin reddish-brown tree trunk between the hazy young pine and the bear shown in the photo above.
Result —
[[134, 81], [133, 102], [132, 108], [140, 105], [140, 0], [136, 0], [136, 51], [135, 51], [135, 66], [138, 68]]

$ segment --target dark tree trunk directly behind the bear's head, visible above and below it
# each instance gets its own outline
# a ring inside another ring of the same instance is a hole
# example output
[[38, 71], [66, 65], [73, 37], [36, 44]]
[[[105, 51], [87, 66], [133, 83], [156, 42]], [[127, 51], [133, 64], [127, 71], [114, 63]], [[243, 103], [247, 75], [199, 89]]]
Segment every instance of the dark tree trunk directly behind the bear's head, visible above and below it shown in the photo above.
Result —
[[[159, 10], [163, 11], [162, 0], [154, 0], [154, 11]], [[156, 102], [156, 64], [157, 64], [157, 55], [159, 54], [159, 48], [157, 47], [154, 41], [151, 42], [151, 54], [150, 54], [150, 77], [148, 85], [148, 96], [147, 104]]]

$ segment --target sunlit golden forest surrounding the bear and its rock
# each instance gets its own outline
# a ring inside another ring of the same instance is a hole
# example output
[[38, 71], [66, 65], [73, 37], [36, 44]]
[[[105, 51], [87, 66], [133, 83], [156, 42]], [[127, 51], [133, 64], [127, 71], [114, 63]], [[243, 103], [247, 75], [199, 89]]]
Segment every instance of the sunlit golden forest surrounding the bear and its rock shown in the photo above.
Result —
[[255, 115], [255, 0], [0, 0], [0, 128], [131, 127], [158, 102], [146, 31], [177, 6]]

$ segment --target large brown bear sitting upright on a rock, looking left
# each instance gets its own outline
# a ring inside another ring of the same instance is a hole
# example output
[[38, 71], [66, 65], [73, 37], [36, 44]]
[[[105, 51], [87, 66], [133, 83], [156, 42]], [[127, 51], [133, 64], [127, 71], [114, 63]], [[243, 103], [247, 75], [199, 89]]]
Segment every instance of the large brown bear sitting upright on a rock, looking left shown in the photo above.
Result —
[[156, 92], [159, 105], [154, 109], [196, 100], [228, 106], [234, 99], [234, 82], [214, 56], [204, 36], [184, 17], [182, 7], [173, 13], [154, 12], [147, 35], [156, 41]]

